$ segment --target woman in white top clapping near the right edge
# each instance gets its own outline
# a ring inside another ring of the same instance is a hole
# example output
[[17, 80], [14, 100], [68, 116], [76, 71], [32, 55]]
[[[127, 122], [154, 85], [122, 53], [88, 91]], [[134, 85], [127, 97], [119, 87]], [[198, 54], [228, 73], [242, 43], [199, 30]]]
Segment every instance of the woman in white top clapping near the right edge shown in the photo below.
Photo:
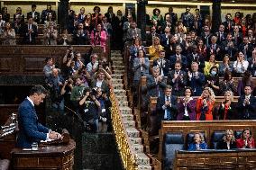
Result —
[[242, 51], [238, 52], [237, 60], [233, 62], [233, 74], [235, 76], [243, 76], [249, 67], [249, 62], [244, 60]]

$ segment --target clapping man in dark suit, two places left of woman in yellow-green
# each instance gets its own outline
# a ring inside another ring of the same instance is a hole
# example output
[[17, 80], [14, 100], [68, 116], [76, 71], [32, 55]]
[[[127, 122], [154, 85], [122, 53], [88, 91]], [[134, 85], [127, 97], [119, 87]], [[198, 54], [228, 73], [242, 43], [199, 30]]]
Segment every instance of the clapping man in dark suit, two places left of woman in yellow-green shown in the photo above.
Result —
[[179, 46], [179, 45], [176, 46], [175, 50], [176, 50], [175, 55], [169, 57], [169, 65], [170, 65], [169, 67], [171, 69], [174, 69], [175, 63], [179, 62], [181, 64], [181, 67], [183, 68], [183, 70], [186, 70], [187, 69], [187, 57], [183, 56], [181, 54], [181, 51], [182, 51], [181, 46]]

